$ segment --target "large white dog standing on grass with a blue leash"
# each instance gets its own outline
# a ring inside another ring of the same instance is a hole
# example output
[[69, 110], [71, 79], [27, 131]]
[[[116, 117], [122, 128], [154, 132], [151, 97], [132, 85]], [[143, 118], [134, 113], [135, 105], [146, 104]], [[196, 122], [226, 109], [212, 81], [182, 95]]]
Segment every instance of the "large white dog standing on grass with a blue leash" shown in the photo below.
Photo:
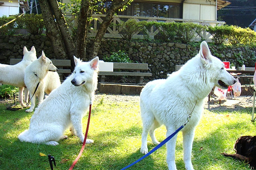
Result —
[[[212, 56], [207, 43], [200, 45], [200, 52], [190, 59], [177, 72], [165, 80], [154, 80], [146, 84], [140, 94], [140, 109], [143, 123], [142, 145], [143, 154], [148, 153], [148, 133], [155, 144], [159, 144], [154, 135], [156, 128], [166, 126], [166, 136], [170, 136], [183, 125], [188, 115], [192, 117], [182, 129], [184, 163], [186, 170], [194, 170], [191, 162], [194, 129], [203, 112], [204, 98], [214, 86], [227, 89], [236, 81], [224, 69], [224, 64]], [[194, 110], [193, 110], [194, 108]], [[169, 170], [176, 170], [175, 145], [177, 135], [166, 143]]]

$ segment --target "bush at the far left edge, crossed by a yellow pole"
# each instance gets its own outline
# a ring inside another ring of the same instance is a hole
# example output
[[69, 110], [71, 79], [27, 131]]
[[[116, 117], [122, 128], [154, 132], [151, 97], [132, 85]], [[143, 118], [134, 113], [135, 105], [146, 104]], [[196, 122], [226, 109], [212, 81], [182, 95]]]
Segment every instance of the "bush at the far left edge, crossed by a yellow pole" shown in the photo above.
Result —
[[[15, 17], [0, 17], [0, 26], [12, 21]], [[0, 35], [14, 35], [15, 22], [9, 23], [8, 25], [0, 28]]]

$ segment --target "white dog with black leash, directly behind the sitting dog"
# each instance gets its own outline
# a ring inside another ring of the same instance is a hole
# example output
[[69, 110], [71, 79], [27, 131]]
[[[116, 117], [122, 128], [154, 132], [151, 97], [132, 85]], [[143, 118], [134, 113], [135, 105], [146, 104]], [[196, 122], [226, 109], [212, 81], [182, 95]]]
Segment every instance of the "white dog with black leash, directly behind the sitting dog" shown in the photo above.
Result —
[[[44, 51], [42, 51], [41, 57], [27, 66], [24, 81], [29, 90], [31, 106], [26, 112], [34, 110], [36, 96], [38, 96], [38, 104], [40, 104], [44, 99], [44, 92], [50, 94], [52, 90], [60, 86], [57, 70], [52, 61], [45, 56]], [[36, 86], [38, 86], [37, 89]]]

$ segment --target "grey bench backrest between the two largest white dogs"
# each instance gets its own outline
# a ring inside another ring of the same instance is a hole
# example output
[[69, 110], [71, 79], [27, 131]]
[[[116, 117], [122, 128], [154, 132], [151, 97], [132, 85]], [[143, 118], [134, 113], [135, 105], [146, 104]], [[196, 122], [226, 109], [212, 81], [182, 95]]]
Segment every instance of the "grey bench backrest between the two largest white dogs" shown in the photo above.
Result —
[[113, 69], [148, 70], [147, 63], [113, 63]]

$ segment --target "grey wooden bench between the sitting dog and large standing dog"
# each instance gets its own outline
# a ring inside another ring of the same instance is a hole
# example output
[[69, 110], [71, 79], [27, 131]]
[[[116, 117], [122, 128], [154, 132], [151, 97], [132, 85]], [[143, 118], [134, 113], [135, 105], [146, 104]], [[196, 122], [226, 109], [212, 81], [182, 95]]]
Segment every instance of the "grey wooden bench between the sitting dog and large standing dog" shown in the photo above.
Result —
[[[140, 72], [140, 70], [148, 70], [146, 63], [113, 63], [113, 70], [114, 72], [100, 71], [98, 82], [104, 82], [105, 76], [136, 76], [136, 83], [142, 84], [144, 76], [152, 76], [152, 73]], [[122, 72], [122, 70], [134, 70], [134, 72]]]

